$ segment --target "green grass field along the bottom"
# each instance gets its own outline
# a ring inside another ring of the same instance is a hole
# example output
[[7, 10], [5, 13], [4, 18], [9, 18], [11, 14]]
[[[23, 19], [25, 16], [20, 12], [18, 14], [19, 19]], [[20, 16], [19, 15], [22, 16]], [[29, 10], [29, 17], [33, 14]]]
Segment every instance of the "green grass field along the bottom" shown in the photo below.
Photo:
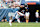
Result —
[[40, 23], [12, 23], [12, 26], [9, 23], [0, 22], [0, 27], [40, 27]]

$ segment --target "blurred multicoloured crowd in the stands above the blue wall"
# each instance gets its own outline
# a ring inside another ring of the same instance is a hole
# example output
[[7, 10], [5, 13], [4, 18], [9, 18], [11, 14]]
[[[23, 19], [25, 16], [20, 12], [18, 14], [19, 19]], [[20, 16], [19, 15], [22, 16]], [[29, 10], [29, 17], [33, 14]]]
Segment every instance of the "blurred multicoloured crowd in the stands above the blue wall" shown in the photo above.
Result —
[[1, 0], [1, 8], [20, 8], [22, 0]]

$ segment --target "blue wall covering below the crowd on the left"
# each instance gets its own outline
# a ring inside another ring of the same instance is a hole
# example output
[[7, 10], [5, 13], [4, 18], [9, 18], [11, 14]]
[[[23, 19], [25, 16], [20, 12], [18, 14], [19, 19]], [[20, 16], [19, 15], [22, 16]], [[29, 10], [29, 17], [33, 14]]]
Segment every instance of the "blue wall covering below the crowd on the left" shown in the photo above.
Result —
[[2, 20], [3, 19], [3, 17], [4, 16], [6, 16], [6, 18], [7, 18], [7, 21], [9, 21], [9, 17], [8, 17], [8, 13], [9, 12], [13, 12], [13, 13], [15, 13], [16, 11], [18, 11], [18, 9], [0, 9], [0, 20]]

